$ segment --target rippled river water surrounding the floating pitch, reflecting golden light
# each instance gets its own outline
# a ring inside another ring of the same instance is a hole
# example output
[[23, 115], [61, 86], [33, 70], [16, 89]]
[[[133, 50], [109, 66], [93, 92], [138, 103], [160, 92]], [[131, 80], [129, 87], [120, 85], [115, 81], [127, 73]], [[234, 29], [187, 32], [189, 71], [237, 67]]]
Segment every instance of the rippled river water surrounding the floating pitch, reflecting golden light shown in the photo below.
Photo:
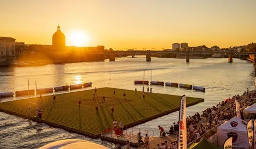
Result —
[[[150, 81], [150, 71], [152, 71], [152, 81], [206, 87], [206, 92], [200, 92], [168, 86], [152, 86], [152, 91], [157, 93], [186, 94], [190, 97], [204, 98], [203, 103], [187, 108], [187, 116], [215, 106], [232, 95], [238, 93], [241, 95], [247, 87], [249, 90], [255, 88], [253, 64], [246, 60], [234, 59], [233, 63], [227, 63], [226, 58], [190, 59], [190, 63], [186, 63], [185, 59], [152, 57], [151, 62], [146, 62], [145, 57], [137, 56], [117, 58], [115, 62], [106, 60], [105, 62], [1, 68], [1, 92], [27, 90], [28, 79], [30, 89], [36, 88], [35, 81], [37, 81], [37, 88], [92, 82], [93, 88], [108, 86], [134, 90], [136, 87], [142, 91], [142, 85], [134, 85], [134, 80], [143, 80], [143, 70], [145, 70], [145, 80], [148, 81]], [[86, 89], [92, 89], [92, 87]], [[19, 100], [19, 98], [1, 100], [5, 102]], [[158, 136], [158, 125], [167, 130], [177, 120], [178, 111], [135, 126], [133, 129], [152, 130], [150, 135]], [[0, 112], [0, 138], [0, 148], [38, 148], [66, 138], [85, 139], [109, 148], [121, 147], [3, 112]]]

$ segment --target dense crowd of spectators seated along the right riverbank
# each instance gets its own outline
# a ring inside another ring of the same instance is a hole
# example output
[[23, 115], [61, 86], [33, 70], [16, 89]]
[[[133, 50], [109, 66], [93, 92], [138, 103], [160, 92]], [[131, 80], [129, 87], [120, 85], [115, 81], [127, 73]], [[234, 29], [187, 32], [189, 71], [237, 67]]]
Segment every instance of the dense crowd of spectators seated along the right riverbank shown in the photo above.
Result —
[[[239, 94], [233, 96], [232, 98], [228, 98], [225, 101], [219, 102], [216, 106], [211, 108], [207, 108], [206, 110], [202, 111], [202, 115], [198, 112], [195, 113], [193, 116], [189, 116], [186, 119], [186, 126], [187, 126], [187, 145], [191, 142], [195, 141], [195, 139], [199, 138], [202, 135], [207, 135], [206, 133], [209, 132], [214, 126], [218, 125], [221, 121], [225, 119], [231, 119], [236, 116], [236, 107], [235, 107], [235, 100], [240, 103], [240, 109], [245, 108], [249, 103], [252, 103], [256, 98], [256, 93], [249, 94], [249, 91], [245, 91], [243, 96], [241, 97]], [[241, 114], [243, 119], [243, 114]], [[204, 121], [199, 124], [200, 120], [204, 117]], [[164, 129], [161, 126], [158, 126], [160, 135], [164, 136], [163, 133]], [[170, 126], [169, 131], [166, 131], [167, 134], [174, 134], [178, 131], [178, 122], [174, 125]], [[216, 130], [211, 130], [212, 133]], [[212, 135], [212, 134], [210, 134]], [[208, 136], [210, 136], [208, 135]], [[174, 142], [163, 142], [158, 144], [158, 148], [177, 148], [177, 140]]]

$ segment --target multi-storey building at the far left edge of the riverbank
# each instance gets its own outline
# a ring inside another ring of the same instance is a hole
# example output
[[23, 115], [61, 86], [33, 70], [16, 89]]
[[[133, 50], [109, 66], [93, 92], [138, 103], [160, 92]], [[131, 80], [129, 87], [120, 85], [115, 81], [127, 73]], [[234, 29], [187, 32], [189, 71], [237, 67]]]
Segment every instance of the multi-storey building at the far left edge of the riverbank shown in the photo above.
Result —
[[13, 63], [16, 59], [15, 40], [11, 37], [0, 37], [0, 63]]

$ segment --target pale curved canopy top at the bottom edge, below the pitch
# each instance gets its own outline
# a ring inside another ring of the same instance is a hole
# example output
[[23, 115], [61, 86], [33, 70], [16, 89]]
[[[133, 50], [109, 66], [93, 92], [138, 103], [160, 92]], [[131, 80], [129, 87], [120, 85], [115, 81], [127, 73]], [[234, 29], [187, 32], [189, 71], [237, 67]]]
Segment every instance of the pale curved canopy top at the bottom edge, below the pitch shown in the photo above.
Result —
[[109, 149], [106, 146], [92, 143], [90, 141], [85, 141], [82, 139], [63, 139], [60, 141], [55, 141], [49, 144], [46, 144], [38, 149]]

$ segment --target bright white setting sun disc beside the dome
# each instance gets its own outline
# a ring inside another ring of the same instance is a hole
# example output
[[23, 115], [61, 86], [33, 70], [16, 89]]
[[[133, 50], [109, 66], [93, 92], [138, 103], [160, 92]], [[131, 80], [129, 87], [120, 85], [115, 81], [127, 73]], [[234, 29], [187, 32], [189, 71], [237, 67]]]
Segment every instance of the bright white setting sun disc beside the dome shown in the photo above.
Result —
[[87, 33], [83, 31], [73, 31], [71, 32], [71, 42], [76, 46], [84, 46], [88, 42]]

